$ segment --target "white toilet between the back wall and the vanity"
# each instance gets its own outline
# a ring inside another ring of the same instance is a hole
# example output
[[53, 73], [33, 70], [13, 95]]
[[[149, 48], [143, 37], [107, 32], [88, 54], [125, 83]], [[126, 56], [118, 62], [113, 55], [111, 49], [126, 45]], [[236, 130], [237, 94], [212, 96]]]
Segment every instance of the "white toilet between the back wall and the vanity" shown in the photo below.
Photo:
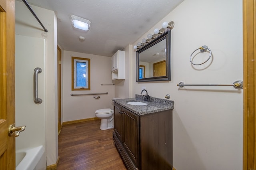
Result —
[[[118, 97], [113, 100], [120, 99]], [[112, 101], [113, 105], [113, 101]], [[114, 128], [114, 111], [112, 109], [99, 109], [95, 111], [95, 116], [101, 119], [100, 129], [107, 130]]]

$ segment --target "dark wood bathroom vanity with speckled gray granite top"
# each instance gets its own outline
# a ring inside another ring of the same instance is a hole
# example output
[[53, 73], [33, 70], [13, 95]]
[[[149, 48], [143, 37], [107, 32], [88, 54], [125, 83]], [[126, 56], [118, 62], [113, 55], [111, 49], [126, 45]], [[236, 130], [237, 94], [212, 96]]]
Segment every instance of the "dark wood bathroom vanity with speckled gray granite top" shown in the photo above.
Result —
[[[172, 109], [174, 101], [151, 98], [114, 101], [113, 140], [130, 170], [172, 169]], [[146, 105], [130, 105], [128, 102]], [[138, 103], [140, 104], [140, 103]]]

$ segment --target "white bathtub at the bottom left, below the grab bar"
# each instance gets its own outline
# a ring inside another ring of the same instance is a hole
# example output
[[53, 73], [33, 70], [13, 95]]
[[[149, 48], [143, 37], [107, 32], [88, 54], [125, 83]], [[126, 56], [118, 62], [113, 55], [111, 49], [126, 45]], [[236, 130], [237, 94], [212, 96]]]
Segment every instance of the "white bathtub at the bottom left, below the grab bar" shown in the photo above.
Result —
[[16, 170], [45, 170], [44, 147], [38, 146], [16, 151]]

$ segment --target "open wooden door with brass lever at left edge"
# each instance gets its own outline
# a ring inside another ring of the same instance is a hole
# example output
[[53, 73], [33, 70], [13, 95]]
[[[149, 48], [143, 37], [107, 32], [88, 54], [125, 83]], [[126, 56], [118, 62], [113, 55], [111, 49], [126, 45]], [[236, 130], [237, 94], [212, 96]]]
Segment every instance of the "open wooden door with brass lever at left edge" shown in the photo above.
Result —
[[0, 0], [0, 169], [15, 169], [15, 1]]

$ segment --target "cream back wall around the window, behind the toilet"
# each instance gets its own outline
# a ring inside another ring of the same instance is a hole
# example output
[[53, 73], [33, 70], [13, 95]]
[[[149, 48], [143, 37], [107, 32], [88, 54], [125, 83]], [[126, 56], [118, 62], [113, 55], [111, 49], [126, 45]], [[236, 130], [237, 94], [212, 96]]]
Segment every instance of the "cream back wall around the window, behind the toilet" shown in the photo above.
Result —
[[[111, 57], [62, 51], [63, 61], [63, 122], [87, 119], [95, 117], [98, 109], [112, 108], [114, 97], [114, 85], [111, 84]], [[90, 90], [71, 90], [71, 57], [90, 58]], [[70, 96], [70, 94], [106, 93], [108, 95], [82, 95]], [[94, 99], [100, 96], [100, 99]]]

